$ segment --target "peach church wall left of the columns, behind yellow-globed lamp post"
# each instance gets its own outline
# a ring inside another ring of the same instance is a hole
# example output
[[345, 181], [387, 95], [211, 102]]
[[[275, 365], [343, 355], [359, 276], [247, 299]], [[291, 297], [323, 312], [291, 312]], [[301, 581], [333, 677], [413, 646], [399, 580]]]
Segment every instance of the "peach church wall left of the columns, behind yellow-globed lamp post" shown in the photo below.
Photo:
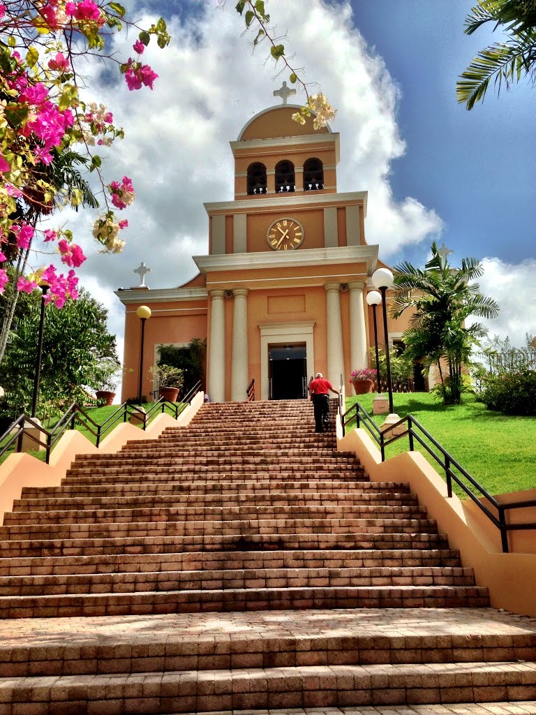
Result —
[[[152, 316], [145, 322], [144, 367], [142, 393], [149, 395], [153, 380], [149, 367], [154, 363], [154, 345], [189, 342], [192, 337], [207, 337], [207, 303], [205, 301], [154, 302], [147, 300], [139, 305], [149, 305]], [[124, 378], [121, 401], [137, 397], [139, 389], [139, 350], [141, 321], [136, 315], [138, 305], [129, 304], [125, 317]], [[188, 310], [195, 312], [188, 313]], [[179, 312], [180, 311], [180, 312]], [[183, 312], [185, 311], [185, 312]]]

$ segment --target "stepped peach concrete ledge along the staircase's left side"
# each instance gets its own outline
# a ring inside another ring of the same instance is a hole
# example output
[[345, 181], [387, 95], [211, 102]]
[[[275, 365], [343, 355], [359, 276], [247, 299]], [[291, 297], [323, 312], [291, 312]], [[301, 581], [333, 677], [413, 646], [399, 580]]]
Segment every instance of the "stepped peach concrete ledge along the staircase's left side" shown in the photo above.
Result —
[[58, 486], [77, 454], [116, 453], [129, 440], [157, 439], [167, 427], [189, 425], [202, 407], [203, 401], [204, 393], [197, 393], [177, 420], [165, 413], [157, 415], [145, 431], [130, 423], [121, 423], [102, 440], [98, 448], [78, 430], [67, 430], [52, 450], [50, 464], [45, 464], [29, 454], [9, 455], [0, 465], [1, 523], [4, 523], [4, 513], [13, 508], [14, 500], [21, 498], [23, 487]]

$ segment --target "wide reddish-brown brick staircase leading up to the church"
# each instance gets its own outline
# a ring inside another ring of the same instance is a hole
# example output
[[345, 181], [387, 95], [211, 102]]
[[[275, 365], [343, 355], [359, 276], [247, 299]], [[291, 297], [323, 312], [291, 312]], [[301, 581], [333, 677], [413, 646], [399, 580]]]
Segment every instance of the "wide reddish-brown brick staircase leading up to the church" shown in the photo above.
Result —
[[0, 617], [0, 715], [536, 714], [536, 620], [307, 400], [209, 403], [25, 488]]

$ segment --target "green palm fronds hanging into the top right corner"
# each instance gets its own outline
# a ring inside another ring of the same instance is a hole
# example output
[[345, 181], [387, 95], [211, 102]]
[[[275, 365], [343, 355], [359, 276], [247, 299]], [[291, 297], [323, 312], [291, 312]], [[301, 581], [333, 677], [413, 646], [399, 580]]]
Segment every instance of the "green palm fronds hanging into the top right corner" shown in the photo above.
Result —
[[490, 82], [499, 94], [504, 82], [507, 89], [522, 77], [536, 80], [536, 0], [478, 0], [465, 19], [465, 33], [470, 35], [487, 22], [505, 29], [508, 40], [480, 50], [462, 72], [457, 82], [458, 102], [472, 109], [484, 99]]

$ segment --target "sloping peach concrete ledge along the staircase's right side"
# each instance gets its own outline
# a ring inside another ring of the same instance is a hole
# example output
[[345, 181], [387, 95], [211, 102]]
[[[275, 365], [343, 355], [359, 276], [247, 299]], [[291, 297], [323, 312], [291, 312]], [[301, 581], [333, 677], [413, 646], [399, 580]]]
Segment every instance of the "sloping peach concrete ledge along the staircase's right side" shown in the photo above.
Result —
[[536, 554], [502, 553], [497, 529], [472, 503], [467, 506], [456, 495], [447, 498], [447, 485], [421, 453], [406, 452], [382, 462], [365, 430], [342, 437], [337, 425], [337, 438], [337, 449], [356, 453], [371, 481], [410, 485], [450, 546], [460, 551], [463, 566], [474, 569], [477, 585], [489, 588], [492, 606], [536, 616]]

